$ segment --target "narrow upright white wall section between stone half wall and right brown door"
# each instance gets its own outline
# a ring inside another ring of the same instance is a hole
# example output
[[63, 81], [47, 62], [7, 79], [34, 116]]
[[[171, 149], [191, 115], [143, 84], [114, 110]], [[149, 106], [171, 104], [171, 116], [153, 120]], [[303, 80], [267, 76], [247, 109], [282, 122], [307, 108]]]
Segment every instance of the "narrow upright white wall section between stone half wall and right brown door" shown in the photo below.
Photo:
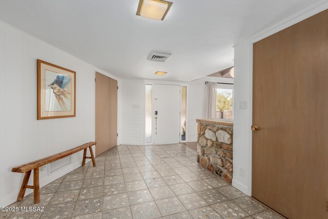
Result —
[[[233, 182], [232, 185], [251, 195], [252, 185], [252, 75], [250, 74], [250, 44], [245, 42], [235, 46], [234, 78], [234, 136], [233, 136]], [[240, 101], [247, 102], [246, 109], [238, 109]], [[239, 175], [239, 168], [244, 169], [244, 176]]]

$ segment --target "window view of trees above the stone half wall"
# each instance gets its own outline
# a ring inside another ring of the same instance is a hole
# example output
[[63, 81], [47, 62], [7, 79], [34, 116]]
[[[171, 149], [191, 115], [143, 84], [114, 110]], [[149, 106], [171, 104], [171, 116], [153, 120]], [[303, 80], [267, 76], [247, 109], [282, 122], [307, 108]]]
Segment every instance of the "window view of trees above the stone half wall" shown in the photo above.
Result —
[[233, 90], [216, 89], [216, 118], [233, 118]]

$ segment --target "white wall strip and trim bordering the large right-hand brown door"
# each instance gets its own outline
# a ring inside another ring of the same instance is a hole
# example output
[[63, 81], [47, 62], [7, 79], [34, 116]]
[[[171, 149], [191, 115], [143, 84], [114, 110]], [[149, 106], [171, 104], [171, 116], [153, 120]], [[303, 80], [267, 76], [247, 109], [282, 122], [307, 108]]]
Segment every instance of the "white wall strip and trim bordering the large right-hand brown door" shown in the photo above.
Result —
[[[235, 45], [234, 171], [232, 185], [247, 195], [252, 195], [252, 132], [250, 128], [252, 126], [253, 43], [282, 29], [290, 27], [327, 8], [328, 2], [320, 1], [288, 19], [273, 25], [271, 28], [259, 32]], [[247, 102], [247, 108], [238, 109], [239, 101]], [[244, 168], [244, 176], [239, 174], [239, 168]]]

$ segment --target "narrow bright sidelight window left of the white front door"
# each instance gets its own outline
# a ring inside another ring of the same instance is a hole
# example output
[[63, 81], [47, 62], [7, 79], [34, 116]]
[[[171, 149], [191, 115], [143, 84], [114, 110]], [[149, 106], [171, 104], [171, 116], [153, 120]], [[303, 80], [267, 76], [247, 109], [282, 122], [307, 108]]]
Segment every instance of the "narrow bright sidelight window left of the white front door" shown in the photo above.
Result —
[[145, 143], [152, 143], [152, 85], [146, 85]]

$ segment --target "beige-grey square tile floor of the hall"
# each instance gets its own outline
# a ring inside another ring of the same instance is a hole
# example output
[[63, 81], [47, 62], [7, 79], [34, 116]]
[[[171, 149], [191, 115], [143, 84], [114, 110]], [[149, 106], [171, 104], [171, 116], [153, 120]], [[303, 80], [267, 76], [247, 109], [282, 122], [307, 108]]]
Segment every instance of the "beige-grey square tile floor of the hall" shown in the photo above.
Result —
[[186, 144], [120, 145], [11, 206], [0, 218], [282, 218], [196, 162]]

